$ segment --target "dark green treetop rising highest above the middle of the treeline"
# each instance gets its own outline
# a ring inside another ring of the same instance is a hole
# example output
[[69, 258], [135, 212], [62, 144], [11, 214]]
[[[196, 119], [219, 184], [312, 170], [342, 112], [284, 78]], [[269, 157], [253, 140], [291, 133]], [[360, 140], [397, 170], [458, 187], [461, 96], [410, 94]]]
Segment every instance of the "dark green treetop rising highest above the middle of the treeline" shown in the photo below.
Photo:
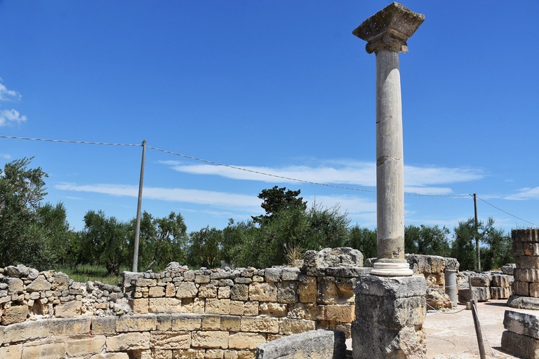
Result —
[[253, 221], [258, 224], [265, 224], [270, 221], [277, 212], [286, 208], [299, 208], [305, 210], [307, 202], [303, 201], [302, 197], [298, 197], [301, 191], [292, 191], [286, 187], [274, 186], [271, 189], [262, 189], [258, 198], [262, 199], [261, 207], [266, 211], [265, 215], [252, 217]]

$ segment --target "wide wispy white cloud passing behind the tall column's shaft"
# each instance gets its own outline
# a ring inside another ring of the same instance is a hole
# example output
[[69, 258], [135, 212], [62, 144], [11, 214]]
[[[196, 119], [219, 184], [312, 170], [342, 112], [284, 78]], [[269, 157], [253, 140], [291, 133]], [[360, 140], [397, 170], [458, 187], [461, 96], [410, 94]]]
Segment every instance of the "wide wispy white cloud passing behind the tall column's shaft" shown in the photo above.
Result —
[[[334, 161], [320, 166], [291, 165], [285, 167], [186, 165], [178, 161], [161, 161], [171, 169], [192, 175], [216, 175], [231, 179], [260, 182], [291, 183], [293, 179], [324, 184], [357, 185], [375, 187], [376, 165], [372, 162]], [[239, 170], [242, 168], [244, 170]], [[439, 184], [455, 184], [484, 178], [481, 170], [469, 168], [405, 166], [406, 191], [418, 194], [451, 194], [448, 187], [432, 187]], [[270, 174], [270, 175], [265, 175]]]

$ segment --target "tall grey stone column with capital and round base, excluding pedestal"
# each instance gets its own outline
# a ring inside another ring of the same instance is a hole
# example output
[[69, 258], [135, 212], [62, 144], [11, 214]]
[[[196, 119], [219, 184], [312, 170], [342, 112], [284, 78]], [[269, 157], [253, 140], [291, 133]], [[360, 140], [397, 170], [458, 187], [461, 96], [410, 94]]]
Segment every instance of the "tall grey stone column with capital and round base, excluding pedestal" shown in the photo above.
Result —
[[378, 260], [376, 276], [411, 276], [404, 259], [404, 156], [402, 144], [399, 53], [425, 20], [392, 3], [365, 20], [353, 34], [376, 54], [376, 204]]

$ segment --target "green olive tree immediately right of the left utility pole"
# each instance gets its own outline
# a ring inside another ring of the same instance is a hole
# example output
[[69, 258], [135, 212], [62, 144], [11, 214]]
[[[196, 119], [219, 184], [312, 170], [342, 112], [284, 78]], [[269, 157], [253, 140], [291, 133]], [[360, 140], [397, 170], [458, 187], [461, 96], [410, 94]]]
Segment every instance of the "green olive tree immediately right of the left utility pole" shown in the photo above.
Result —
[[[134, 228], [135, 222], [133, 220]], [[133, 234], [134, 238], [134, 234]], [[164, 269], [170, 262], [187, 262], [187, 226], [180, 213], [156, 218], [142, 212], [140, 219], [140, 269]], [[133, 252], [131, 246], [130, 251]]]

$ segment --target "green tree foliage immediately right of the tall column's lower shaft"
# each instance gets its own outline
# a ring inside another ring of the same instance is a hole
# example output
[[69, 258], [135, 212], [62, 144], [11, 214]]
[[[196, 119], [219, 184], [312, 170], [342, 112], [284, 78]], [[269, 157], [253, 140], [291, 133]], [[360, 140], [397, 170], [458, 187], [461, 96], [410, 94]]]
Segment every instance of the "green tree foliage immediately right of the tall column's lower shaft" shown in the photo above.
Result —
[[449, 229], [445, 226], [406, 226], [404, 228], [404, 252], [416, 255], [451, 255]]

